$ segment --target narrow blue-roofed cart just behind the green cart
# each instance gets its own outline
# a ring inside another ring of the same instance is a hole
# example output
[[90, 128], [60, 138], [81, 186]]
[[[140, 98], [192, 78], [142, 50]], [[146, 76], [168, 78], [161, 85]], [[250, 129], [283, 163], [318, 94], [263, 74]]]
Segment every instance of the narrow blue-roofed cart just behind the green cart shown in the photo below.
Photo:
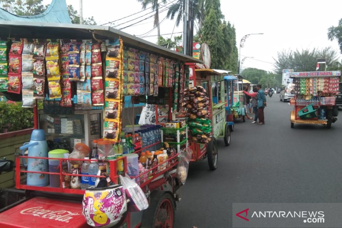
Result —
[[232, 75], [224, 76], [224, 94], [225, 94], [225, 109], [226, 109], [226, 121], [229, 123], [231, 132], [234, 131], [234, 113], [232, 112], [232, 106], [234, 105], [234, 81], [237, 81], [236, 77]]

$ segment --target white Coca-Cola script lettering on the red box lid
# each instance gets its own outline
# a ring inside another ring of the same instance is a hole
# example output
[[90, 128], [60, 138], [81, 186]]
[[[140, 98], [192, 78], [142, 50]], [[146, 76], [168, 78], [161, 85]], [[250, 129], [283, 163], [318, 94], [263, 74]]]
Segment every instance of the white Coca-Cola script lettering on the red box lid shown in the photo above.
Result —
[[51, 211], [44, 210], [42, 206], [30, 207], [20, 211], [23, 215], [33, 215], [41, 218], [53, 219], [60, 222], [69, 223], [73, 216], [81, 215], [80, 213], [73, 213], [71, 211]]

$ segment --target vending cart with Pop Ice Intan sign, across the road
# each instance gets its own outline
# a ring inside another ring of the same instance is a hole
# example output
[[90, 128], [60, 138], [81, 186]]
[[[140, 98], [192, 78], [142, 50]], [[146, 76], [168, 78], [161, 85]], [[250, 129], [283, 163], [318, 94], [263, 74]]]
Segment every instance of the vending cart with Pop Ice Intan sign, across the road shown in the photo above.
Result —
[[331, 128], [337, 120], [336, 95], [341, 71], [290, 72], [295, 96], [290, 99], [291, 128], [294, 124], [324, 124]]

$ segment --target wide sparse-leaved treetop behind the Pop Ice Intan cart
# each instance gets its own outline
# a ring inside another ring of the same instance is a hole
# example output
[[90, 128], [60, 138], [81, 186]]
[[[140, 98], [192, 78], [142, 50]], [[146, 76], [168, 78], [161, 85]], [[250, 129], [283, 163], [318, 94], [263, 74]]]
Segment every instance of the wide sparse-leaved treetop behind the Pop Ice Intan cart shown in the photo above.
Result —
[[[331, 47], [324, 49], [302, 49], [302, 50], [283, 50], [278, 52], [275, 61], [275, 71], [277, 74], [282, 74], [283, 69], [293, 69], [296, 72], [316, 71], [317, 58], [326, 58], [328, 66], [337, 66], [338, 53]], [[320, 64], [320, 71], [325, 70], [324, 64]], [[328, 68], [329, 69], [329, 68]]]

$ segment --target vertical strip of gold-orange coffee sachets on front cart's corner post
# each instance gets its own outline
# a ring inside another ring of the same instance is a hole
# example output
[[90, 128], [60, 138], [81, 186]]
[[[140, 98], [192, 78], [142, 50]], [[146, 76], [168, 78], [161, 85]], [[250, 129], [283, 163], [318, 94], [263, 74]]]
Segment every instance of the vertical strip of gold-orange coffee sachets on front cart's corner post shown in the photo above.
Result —
[[[117, 142], [120, 135], [122, 107], [122, 40], [106, 40], [105, 119], [103, 137]], [[98, 76], [97, 76], [98, 77]]]

